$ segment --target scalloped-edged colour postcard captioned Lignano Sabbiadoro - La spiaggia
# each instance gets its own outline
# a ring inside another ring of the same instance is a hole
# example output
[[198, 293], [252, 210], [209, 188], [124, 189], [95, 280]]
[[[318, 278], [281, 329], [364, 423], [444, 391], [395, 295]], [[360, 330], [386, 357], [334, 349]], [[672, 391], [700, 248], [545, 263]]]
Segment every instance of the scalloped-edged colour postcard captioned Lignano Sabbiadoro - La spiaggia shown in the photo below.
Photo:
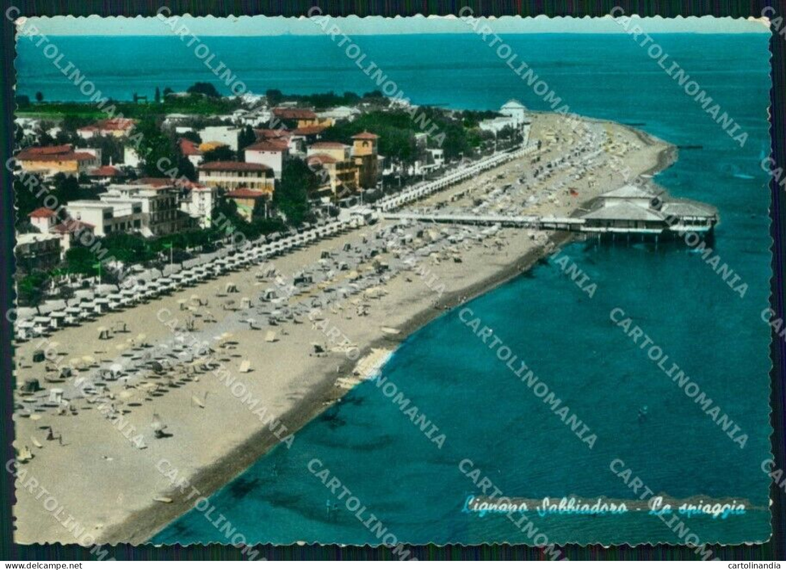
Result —
[[773, 15], [9, 10], [15, 541], [767, 542]]

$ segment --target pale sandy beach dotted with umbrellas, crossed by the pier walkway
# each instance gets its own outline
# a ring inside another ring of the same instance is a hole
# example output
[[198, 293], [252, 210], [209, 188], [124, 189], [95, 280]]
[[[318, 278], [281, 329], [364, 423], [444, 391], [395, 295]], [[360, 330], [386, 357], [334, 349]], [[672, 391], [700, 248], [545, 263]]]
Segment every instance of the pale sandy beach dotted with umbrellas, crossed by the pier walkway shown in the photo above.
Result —
[[[569, 215], [625, 183], [623, 175], [608, 166], [608, 156], [618, 156], [633, 176], [661, 171], [676, 156], [674, 147], [633, 128], [595, 120], [585, 124], [596, 137], [595, 149], [602, 152], [593, 157], [591, 165], [582, 163], [582, 156], [571, 156], [574, 164], [587, 165], [579, 178], [575, 167], [567, 166], [542, 179], [531, 175], [536, 167], [572, 155], [578, 145], [578, 135], [563, 117], [536, 114], [531, 139], [541, 140], [542, 150], [403, 210], [481, 208], [510, 215]], [[538, 162], [533, 164], [534, 160]], [[399, 227], [395, 227], [397, 223]], [[83, 370], [75, 371], [64, 383], [50, 384], [45, 380], [46, 362], [33, 362], [39, 340], [17, 346], [17, 387], [35, 378], [45, 391], [70, 387], [73, 392], [76, 378], [112, 364], [132, 371], [124, 373], [126, 381], [96, 383], [97, 396], [112, 403], [114, 423], [99, 410], [98, 400], [90, 402], [90, 398], [72, 399], [71, 409], [64, 414], [58, 414], [62, 406], [48, 403], [46, 392], [38, 392], [38, 400], [26, 403], [30, 412], [26, 417], [17, 406], [17, 449], [28, 447], [34, 457], [19, 467], [24, 476], [17, 477], [16, 542], [90, 542], [77, 536], [75, 524], [85, 529], [82, 537], [89, 535], [97, 544], [148, 540], [282, 439], [284, 444], [292, 435], [297, 439], [299, 428], [346, 393], [347, 384], [336, 385], [336, 380], [352, 377], [357, 364], [348, 357], [347, 348], [356, 355], [368, 355], [376, 348], [395, 350], [404, 337], [446, 309], [515, 277], [543, 255], [535, 232], [503, 229], [479, 236], [483, 229], [425, 223], [402, 227], [399, 222], [383, 220], [261, 266], [57, 331], [44, 339], [40, 348], [55, 343], [50, 355], [57, 353], [63, 364], [90, 357], [83, 359]], [[400, 251], [382, 247], [391, 239], [404, 242]], [[556, 234], [550, 239], [561, 244], [571, 236]], [[380, 244], [374, 259], [364, 259], [357, 267], [342, 267], [347, 252], [362, 249], [364, 243]], [[404, 258], [410, 252], [418, 261], [406, 266]], [[390, 267], [387, 274], [379, 270], [380, 263]], [[326, 270], [329, 264], [335, 267], [330, 272]], [[351, 294], [337, 303], [311, 305], [317, 309], [311, 318], [281, 318], [270, 325], [270, 313], [259, 313], [263, 305], [259, 296], [277, 285], [259, 272], [271, 266], [284, 276], [294, 276], [308, 267], [324, 277], [275, 303], [276, 310], [303, 307], [329, 289], [336, 289], [336, 294], [349, 289]], [[325, 271], [320, 272], [320, 267]], [[375, 273], [383, 279], [374, 291], [352, 292], [347, 287], [359, 276]], [[227, 292], [233, 289], [227, 287], [230, 284], [236, 292]], [[193, 296], [202, 301], [200, 307], [188, 310], [178, 304], [181, 299], [191, 304]], [[244, 306], [244, 298], [250, 300], [251, 307]], [[254, 319], [253, 328], [248, 318]], [[112, 329], [121, 320], [127, 332], [110, 333], [108, 339], [98, 340], [99, 327]], [[179, 330], [186, 322], [193, 322], [193, 330]], [[178, 327], [176, 333], [174, 327]], [[338, 329], [340, 336], [330, 336], [332, 328]], [[270, 332], [275, 333], [274, 341], [270, 341]], [[140, 339], [140, 334], [144, 338]], [[149, 370], [133, 370], [146, 351], [170, 352], [177, 336], [210, 344], [216, 364], [235, 379], [232, 387], [227, 386], [226, 377], [212, 370], [195, 370], [193, 362], [178, 362], [169, 373], [152, 376]], [[312, 355], [314, 344], [324, 352]], [[137, 360], [132, 360], [134, 357]], [[244, 368], [248, 372], [241, 372]], [[235, 388], [238, 383], [243, 386], [241, 395], [240, 388]], [[16, 394], [18, 402], [30, 399], [18, 390]], [[250, 401], [258, 403], [250, 406]], [[150, 425], [154, 414], [167, 425], [167, 437], [153, 437]], [[270, 418], [280, 423], [273, 428]], [[123, 429], [117, 427], [121, 421]], [[50, 429], [55, 439], [47, 439]], [[141, 436], [144, 448], [134, 443], [134, 436]], [[174, 473], [198, 494], [189, 499], [178, 490], [172, 481]], [[48, 495], [40, 495], [42, 488]], [[46, 504], [47, 496], [57, 502], [56, 509], [51, 508], [51, 501]]]

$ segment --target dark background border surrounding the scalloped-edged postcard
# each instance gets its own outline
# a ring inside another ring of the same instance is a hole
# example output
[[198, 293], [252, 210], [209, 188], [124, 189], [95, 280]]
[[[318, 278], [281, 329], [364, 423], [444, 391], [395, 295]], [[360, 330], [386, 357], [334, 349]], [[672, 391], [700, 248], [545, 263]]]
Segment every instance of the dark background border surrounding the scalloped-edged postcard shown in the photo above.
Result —
[[[772, 52], [772, 79], [773, 90], [770, 94], [770, 128], [773, 144], [773, 159], [778, 167], [786, 166], [784, 157], [784, 142], [786, 142], [786, 124], [784, 124], [784, 46], [786, 46], [786, 3], [781, 2], [744, 2], [737, 0], [710, 0], [696, 1], [683, 0], [682, 2], [659, 2], [658, 0], [644, 0], [640, 2], [625, 2], [623, 0], [587, 0], [586, 2], [542, 2], [538, 0], [235, 0], [234, 2], [218, 1], [169, 1], [169, 2], [119, 2], [118, 0], [83, 0], [83, 2], [67, 2], [57, 0], [40, 0], [39, 2], [3, 2], [3, 10], [9, 6], [17, 6], [21, 16], [57, 16], [74, 15], [87, 16], [99, 14], [102, 16], [155, 16], [160, 6], [169, 6], [173, 15], [190, 13], [193, 16], [212, 14], [216, 17], [234, 15], [265, 14], [268, 16], [299, 16], [307, 12], [311, 6], [320, 6], [324, 13], [333, 16], [410, 16], [422, 14], [448, 14], [457, 13], [462, 6], [471, 6], [476, 16], [502, 16], [516, 15], [535, 16], [546, 14], [548, 16], [603, 16], [614, 6], [622, 6], [625, 13], [637, 13], [641, 16], [731, 16], [731, 17], [759, 17], [762, 8], [773, 6], [774, 17], [784, 17], [780, 30], [783, 35], [778, 35], [773, 30], [770, 40]], [[2, 19], [2, 69], [0, 69], [0, 103], [2, 103], [2, 138], [0, 138], [0, 151], [2, 160], [13, 150], [13, 86], [16, 77], [13, 67], [15, 56], [13, 26], [6, 19]], [[771, 234], [773, 237], [773, 278], [772, 278], [772, 307], [777, 316], [784, 316], [784, 231], [786, 231], [786, 208], [782, 205], [784, 196], [774, 183], [770, 183], [771, 191]], [[13, 307], [13, 191], [11, 175], [5, 168], [2, 169], [0, 180], [0, 310], [6, 314]], [[0, 461], [13, 458], [11, 443], [14, 439], [13, 422], [13, 367], [12, 367], [12, 329], [6, 318], [0, 318], [0, 366], [2, 366], [2, 383], [0, 383]], [[772, 424], [773, 424], [773, 455], [776, 469], [784, 468], [784, 371], [786, 371], [786, 344], [783, 339], [777, 338], [773, 333], [770, 345], [773, 369], [770, 373], [773, 392], [771, 395]], [[740, 377], [740, 382], [747, 381]], [[763, 404], [763, 403], [762, 403]], [[784, 539], [784, 522], [786, 522], [786, 491], [773, 485], [770, 490], [773, 501], [773, 536], [761, 545], [752, 546], [718, 546], [710, 545], [715, 556], [722, 560], [757, 561], [757, 560], [784, 560], [786, 558], [786, 539]], [[0, 469], [0, 560], [93, 560], [89, 550], [80, 546], [20, 546], [13, 543], [13, 518], [11, 505], [13, 502], [13, 478]], [[132, 547], [118, 545], [107, 546], [110, 556], [117, 560], [241, 560], [240, 550], [232, 546], [141, 546]], [[269, 560], [395, 560], [387, 548], [372, 548], [360, 546], [263, 546], [255, 547], [259, 550], [259, 557]], [[697, 559], [692, 549], [685, 546], [622, 546], [604, 548], [603, 546], [560, 546], [564, 555], [571, 560], [694, 560]], [[531, 546], [414, 546], [410, 547], [413, 556], [421, 560], [542, 560], [545, 557], [542, 550]]]

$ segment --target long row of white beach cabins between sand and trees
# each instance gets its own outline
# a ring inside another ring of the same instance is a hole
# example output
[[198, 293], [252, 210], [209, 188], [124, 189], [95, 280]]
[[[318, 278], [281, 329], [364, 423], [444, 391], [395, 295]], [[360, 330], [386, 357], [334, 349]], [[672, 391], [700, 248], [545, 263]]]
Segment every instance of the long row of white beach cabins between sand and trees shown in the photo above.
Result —
[[[529, 145], [523, 149], [495, 153], [483, 160], [479, 160], [475, 164], [461, 167], [442, 178], [418, 184], [394, 197], [380, 200], [376, 204], [376, 208], [380, 211], [389, 211], [404, 204], [409, 204], [414, 200], [472, 178], [480, 172], [519, 158], [526, 153], [531, 153], [533, 150], [534, 145]], [[265, 259], [281, 255], [310, 242], [319, 241], [325, 237], [354, 229], [361, 226], [365, 221], [367, 220], [352, 217], [343, 221], [329, 222], [321, 226], [311, 227], [296, 234], [284, 236], [272, 234], [267, 238], [269, 241], [262, 237], [251, 247], [231, 251], [226, 256], [212, 259], [200, 266], [152, 279], [144, 284], [138, 283], [133, 287], [121, 289], [116, 293], [96, 295], [92, 299], [83, 299], [78, 304], [64, 307], [60, 311], [50, 311], [48, 314], [37, 315], [30, 319], [20, 319], [16, 325], [16, 340], [24, 342], [31, 338], [46, 336], [66, 326], [77, 326], [83, 322], [91, 321], [108, 311], [122, 311], [138, 303], [146, 303], [149, 300], [168, 295], [178, 289], [218, 278], [230, 271], [240, 270], [254, 263], [262, 263]]]

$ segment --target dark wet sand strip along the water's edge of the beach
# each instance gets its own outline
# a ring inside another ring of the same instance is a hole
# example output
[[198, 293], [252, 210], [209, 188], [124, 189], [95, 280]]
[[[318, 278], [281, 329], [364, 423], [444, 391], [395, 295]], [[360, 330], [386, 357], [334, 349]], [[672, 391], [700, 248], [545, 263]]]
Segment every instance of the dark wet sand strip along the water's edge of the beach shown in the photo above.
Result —
[[[659, 139], [642, 131], [638, 131], [633, 127], [628, 127], [626, 125], [621, 126], [630, 131], [634, 131], [642, 142], [645, 142], [647, 145], [656, 144], [656, 142], [659, 141]], [[655, 175], [665, 170], [671, 164], [674, 164], [676, 159], [677, 148], [673, 145], [669, 145], [666, 149], [659, 152], [656, 165], [641, 174]], [[639, 176], [641, 176], [641, 174]], [[582, 207], [588, 206], [594, 199], [595, 198], [592, 198], [582, 203]], [[553, 234], [552, 241], [554, 245], [556, 245], [556, 249], [559, 250], [576, 240], [575, 236], [568, 232], [557, 232]], [[361, 358], [368, 355], [375, 348], [389, 348], [395, 351], [395, 349], [399, 348], [402, 344], [403, 340], [406, 340], [406, 337], [417, 332], [417, 330], [428, 325], [428, 323], [443, 316], [443, 314], [447, 314], [455, 307], [476, 299], [479, 296], [483, 296], [487, 292], [493, 291], [508, 281], [526, 273], [528, 270], [531, 270], [538, 261], [545, 259], [545, 256], [546, 254], [543, 251], [543, 247], [539, 246], [510, 262], [506, 267], [490, 277], [484, 278], [457, 292], [451, 292], [443, 299], [441, 306], [432, 306], [410, 316], [405, 324], [399, 329], [399, 334], [387, 339], [378, 340], [366, 346], [361, 353]], [[303, 402], [280, 418], [282, 423], [287, 425], [292, 433], [297, 433], [313, 421], [314, 418], [318, 417], [319, 414], [329, 409], [329, 407], [333, 406], [337, 401], [343, 398], [343, 396], [351, 392], [351, 388], [336, 387], [335, 382], [342, 375], [343, 373], [336, 371], [325, 372], [319, 383], [312, 388], [307, 397], [303, 399]], [[329, 403], [325, 405], [325, 402]], [[222, 487], [230, 484], [232, 480], [248, 470], [255, 462], [270, 453], [279, 443], [281, 442], [274, 436], [273, 432], [269, 429], [261, 428], [242, 443], [241, 446], [231, 450], [225, 458], [222, 458], [222, 462], [200, 469], [196, 476], [190, 480], [190, 484], [200, 490], [201, 496], [209, 497], [213, 495], [215, 491], [219, 491]], [[175, 507], [176, 512], [173, 513], [172, 508], [174, 505], [177, 505], [177, 507]], [[193, 504], [191, 502], [175, 503], [173, 501], [170, 504], [153, 503], [148, 509], [134, 513], [134, 515], [123, 521], [123, 523], [107, 529], [102, 539], [112, 544], [112, 546], [115, 546], [119, 542], [128, 542], [134, 538], [139, 539], [140, 535], [142, 535], [144, 536], [143, 540], [148, 542], [153, 536], [163, 530], [163, 528], [172, 524], [174, 520], [177, 520], [191, 509], [193, 509]]]

